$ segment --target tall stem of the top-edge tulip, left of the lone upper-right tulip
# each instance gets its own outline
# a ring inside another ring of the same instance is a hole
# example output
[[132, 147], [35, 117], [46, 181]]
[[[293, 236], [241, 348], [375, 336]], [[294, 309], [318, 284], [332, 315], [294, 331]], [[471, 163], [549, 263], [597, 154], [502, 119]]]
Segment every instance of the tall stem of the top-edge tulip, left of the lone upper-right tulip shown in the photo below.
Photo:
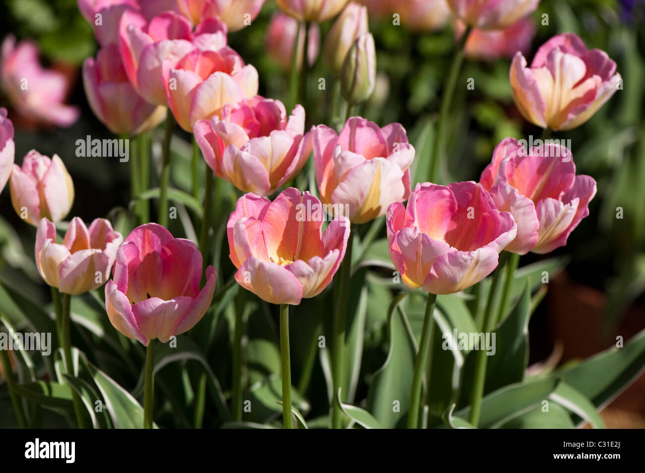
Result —
[[455, 95], [455, 88], [457, 87], [457, 80], [461, 73], [461, 67], [464, 64], [464, 46], [466, 39], [470, 35], [470, 26], [466, 27], [466, 31], [462, 35], [457, 50], [452, 58], [450, 65], [450, 72], [448, 72], [448, 79], [444, 86], [444, 93], [441, 99], [441, 108], [439, 109], [439, 122], [432, 145], [432, 155], [430, 155], [430, 173], [428, 174], [428, 181], [437, 184], [439, 177], [439, 163], [441, 162], [442, 155], [444, 154], [444, 139], [446, 135], [446, 122], [448, 122], [448, 113], [452, 106], [452, 99]]

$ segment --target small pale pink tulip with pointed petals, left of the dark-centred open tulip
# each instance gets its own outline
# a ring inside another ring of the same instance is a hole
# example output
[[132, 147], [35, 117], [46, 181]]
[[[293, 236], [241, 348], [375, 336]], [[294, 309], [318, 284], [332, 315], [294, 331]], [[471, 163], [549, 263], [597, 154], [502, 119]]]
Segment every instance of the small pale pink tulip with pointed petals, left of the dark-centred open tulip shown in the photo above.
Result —
[[63, 244], [57, 244], [54, 223], [43, 218], [36, 232], [36, 265], [48, 285], [61, 293], [83, 294], [108, 280], [122, 241], [123, 236], [108, 220], [97, 218], [88, 229], [83, 220], [74, 217]]

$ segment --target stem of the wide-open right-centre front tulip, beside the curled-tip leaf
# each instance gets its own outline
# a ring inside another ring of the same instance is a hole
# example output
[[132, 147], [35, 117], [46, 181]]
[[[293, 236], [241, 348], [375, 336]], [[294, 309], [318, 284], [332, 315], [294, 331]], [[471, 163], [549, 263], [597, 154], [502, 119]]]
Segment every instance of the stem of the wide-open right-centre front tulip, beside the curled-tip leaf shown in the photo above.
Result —
[[[421, 404], [421, 387], [423, 384], [423, 373], [426, 369], [426, 363], [432, 365], [432, 339], [435, 327], [435, 302], [437, 294], [428, 293], [426, 300], [426, 314], [423, 318], [423, 328], [421, 329], [421, 341], [419, 342], [419, 352], [414, 364], [414, 376], [412, 378], [412, 393], [410, 394], [410, 410], [408, 410], [408, 429], [417, 429], [419, 423], [419, 405]], [[430, 391], [430, 370], [426, 376], [428, 383], [426, 391]]]

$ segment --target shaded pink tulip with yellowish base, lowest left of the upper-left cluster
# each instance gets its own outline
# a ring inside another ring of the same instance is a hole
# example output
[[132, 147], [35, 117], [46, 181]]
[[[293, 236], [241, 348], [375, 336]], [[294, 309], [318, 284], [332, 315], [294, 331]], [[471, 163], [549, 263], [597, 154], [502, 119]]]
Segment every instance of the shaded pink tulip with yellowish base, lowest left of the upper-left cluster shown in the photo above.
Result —
[[94, 115], [112, 133], [137, 134], [155, 128], [166, 108], [145, 101], [135, 92], [121, 64], [119, 48], [108, 44], [83, 63], [85, 95]]

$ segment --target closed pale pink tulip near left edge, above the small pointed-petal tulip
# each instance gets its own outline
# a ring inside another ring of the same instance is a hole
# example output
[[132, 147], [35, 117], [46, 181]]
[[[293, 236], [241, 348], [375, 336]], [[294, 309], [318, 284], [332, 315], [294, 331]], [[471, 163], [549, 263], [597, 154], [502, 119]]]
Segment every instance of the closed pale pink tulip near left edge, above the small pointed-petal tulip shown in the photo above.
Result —
[[15, 212], [33, 226], [43, 217], [60, 222], [74, 203], [74, 183], [58, 155], [49, 159], [29, 151], [22, 168], [14, 164], [9, 188]]

